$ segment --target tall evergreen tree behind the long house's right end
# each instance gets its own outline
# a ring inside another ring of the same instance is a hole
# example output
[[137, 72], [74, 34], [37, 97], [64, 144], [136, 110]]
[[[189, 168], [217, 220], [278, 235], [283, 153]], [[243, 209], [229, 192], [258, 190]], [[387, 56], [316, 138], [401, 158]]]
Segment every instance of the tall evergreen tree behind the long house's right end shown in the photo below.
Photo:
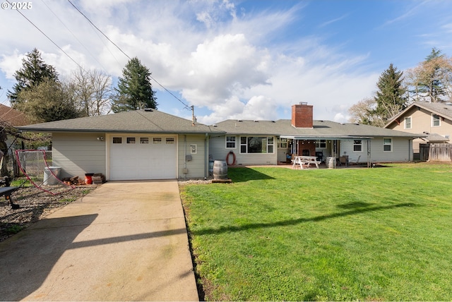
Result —
[[402, 82], [403, 71], [397, 71], [397, 68], [391, 63], [388, 69], [381, 73], [379, 81], [376, 83], [378, 90], [374, 97], [376, 108], [373, 114], [380, 117], [383, 125], [406, 107], [406, 90]]

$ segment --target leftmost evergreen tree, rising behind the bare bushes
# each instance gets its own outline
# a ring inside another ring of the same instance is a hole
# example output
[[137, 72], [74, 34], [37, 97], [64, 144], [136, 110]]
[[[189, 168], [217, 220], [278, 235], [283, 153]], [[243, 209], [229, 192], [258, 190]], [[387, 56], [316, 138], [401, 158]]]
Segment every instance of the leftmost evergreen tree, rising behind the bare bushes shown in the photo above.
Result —
[[16, 78], [17, 83], [13, 86], [13, 91], [8, 90], [7, 93], [13, 107], [16, 103], [21, 102], [18, 98], [19, 92], [39, 85], [46, 78], [57, 82], [58, 73], [52, 65], [44, 63], [39, 50], [33, 49], [22, 59], [22, 68], [14, 73], [14, 78]]

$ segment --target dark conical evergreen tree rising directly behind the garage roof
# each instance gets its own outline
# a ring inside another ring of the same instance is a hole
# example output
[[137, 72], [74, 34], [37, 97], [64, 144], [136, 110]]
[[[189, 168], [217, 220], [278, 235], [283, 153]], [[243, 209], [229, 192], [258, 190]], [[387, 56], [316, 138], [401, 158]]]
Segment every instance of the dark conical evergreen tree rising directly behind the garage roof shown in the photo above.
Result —
[[129, 60], [119, 78], [118, 95], [112, 104], [114, 112], [144, 108], [157, 109], [155, 92], [150, 83], [150, 71], [138, 58]]

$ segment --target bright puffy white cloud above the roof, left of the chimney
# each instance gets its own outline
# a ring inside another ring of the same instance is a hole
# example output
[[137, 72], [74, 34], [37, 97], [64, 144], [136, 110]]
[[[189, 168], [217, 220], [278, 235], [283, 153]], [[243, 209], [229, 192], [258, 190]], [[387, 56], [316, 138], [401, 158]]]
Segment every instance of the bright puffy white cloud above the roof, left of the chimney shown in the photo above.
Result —
[[191, 104], [213, 108], [223, 99], [268, 79], [269, 57], [244, 35], [220, 35], [199, 44], [186, 64], [182, 96]]

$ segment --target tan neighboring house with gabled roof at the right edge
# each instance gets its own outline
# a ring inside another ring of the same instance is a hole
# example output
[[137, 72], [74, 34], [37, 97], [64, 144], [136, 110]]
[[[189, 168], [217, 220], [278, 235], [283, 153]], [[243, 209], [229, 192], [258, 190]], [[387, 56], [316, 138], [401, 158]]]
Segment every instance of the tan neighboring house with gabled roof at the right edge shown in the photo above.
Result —
[[419, 159], [420, 144], [451, 143], [451, 103], [414, 102], [394, 116], [385, 128], [397, 131], [424, 133], [424, 138], [413, 140], [415, 159]]

